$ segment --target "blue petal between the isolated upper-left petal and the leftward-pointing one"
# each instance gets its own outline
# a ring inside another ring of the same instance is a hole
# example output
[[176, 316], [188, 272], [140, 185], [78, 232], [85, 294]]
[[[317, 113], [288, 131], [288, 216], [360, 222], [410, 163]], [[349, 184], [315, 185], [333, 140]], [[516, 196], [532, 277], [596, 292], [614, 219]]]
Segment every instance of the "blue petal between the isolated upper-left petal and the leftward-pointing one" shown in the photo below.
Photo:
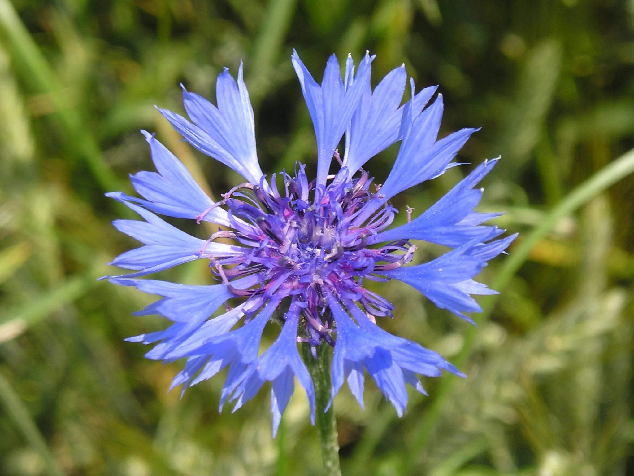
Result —
[[[106, 195], [119, 201], [136, 202], [162, 215], [199, 218], [214, 202], [202, 191], [185, 166], [156, 140], [153, 134], [150, 135], [146, 131], [141, 133], [150, 144], [152, 161], [158, 171], [141, 171], [130, 176], [134, 189], [145, 197], [145, 200], [129, 197], [121, 192]], [[230, 226], [227, 212], [221, 208], [214, 208], [202, 220]]]

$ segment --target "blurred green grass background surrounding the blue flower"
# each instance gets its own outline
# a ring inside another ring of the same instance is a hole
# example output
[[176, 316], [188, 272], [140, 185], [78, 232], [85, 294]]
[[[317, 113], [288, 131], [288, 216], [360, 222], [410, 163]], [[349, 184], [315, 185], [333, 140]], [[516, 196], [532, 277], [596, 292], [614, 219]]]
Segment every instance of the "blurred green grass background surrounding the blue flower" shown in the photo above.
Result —
[[[150, 298], [95, 281], [133, 245], [103, 193], [152, 169], [138, 129], [216, 197], [238, 180], [153, 109], [183, 110], [179, 82], [212, 98], [242, 58], [262, 169], [314, 162], [297, 48], [316, 76], [333, 51], [368, 49], [375, 80], [404, 62], [419, 88], [439, 84], [444, 133], [482, 126], [460, 160], [503, 157], [481, 209], [521, 232], [481, 275], [503, 294], [477, 328], [382, 288], [396, 305], [382, 325], [469, 378], [427, 379], [401, 420], [372, 382], [365, 412], [342, 391], [344, 473], [634, 474], [634, 157], [614, 162], [634, 147], [633, 32], [632, 0], [0, 0], [0, 473], [320, 473], [303, 392], [276, 440], [266, 392], [233, 415], [217, 413], [221, 378], [179, 400], [182, 364], [122, 341], [165, 325], [130, 315]], [[395, 152], [368, 165], [377, 182]], [[468, 170], [396, 204], [422, 211]], [[162, 277], [209, 281], [202, 263]]]

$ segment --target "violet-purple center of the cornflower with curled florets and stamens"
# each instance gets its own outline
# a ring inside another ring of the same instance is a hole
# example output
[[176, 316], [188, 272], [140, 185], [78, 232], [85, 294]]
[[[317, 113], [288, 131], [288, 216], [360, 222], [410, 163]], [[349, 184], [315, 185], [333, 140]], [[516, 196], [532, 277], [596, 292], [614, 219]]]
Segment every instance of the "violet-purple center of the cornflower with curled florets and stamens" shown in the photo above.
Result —
[[[306, 340], [313, 345], [322, 340], [333, 344], [333, 317], [326, 312], [327, 297], [332, 294], [358, 301], [372, 320], [391, 316], [391, 303], [365, 289], [363, 281], [387, 281], [375, 273], [408, 263], [416, 249], [407, 240], [368, 246], [368, 237], [389, 227], [398, 210], [386, 202], [357, 223], [368, 204], [382, 197], [379, 187], [370, 190], [372, 179], [363, 169], [356, 178], [348, 175], [342, 168], [328, 177], [326, 187], [316, 186], [315, 181], [307, 181], [304, 166], [298, 163], [294, 176], [280, 175], [283, 194], [274, 174], [271, 183], [262, 178], [258, 185], [242, 183], [232, 188], [214, 205], [228, 208], [235, 231], [220, 230], [208, 242], [233, 238], [250, 248], [241, 256], [212, 260], [214, 276], [228, 284], [235, 296], [249, 300], [273, 294], [278, 299], [295, 296], [302, 303]], [[252, 274], [261, 274], [259, 287], [231, 286], [232, 279]]]

